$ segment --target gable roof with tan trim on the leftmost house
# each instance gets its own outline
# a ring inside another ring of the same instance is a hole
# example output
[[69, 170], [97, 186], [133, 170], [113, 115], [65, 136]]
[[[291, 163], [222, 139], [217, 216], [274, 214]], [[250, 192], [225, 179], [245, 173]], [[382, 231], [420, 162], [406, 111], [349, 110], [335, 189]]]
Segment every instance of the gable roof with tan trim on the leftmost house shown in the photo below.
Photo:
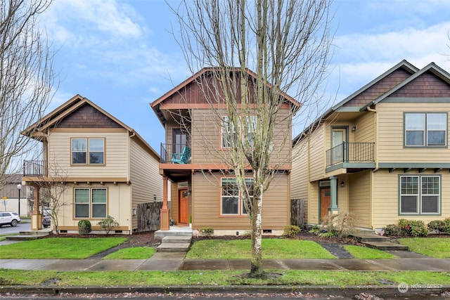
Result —
[[148, 145], [148, 143], [136, 131], [134, 131], [134, 129], [127, 126], [113, 115], [110, 115], [108, 112], [103, 110], [101, 107], [96, 105], [88, 98], [84, 98], [79, 94], [73, 96], [72, 98], [70, 98], [70, 100], [63, 103], [63, 105], [60, 105], [55, 110], [49, 112], [49, 114], [39, 119], [36, 123], [29, 126], [27, 129], [21, 131], [20, 134], [23, 134], [24, 136], [27, 136], [29, 138], [40, 140], [42, 133], [44, 133], [46, 129], [51, 128], [51, 126], [55, 126], [66, 117], [69, 117], [72, 113], [79, 110], [84, 105], [91, 105], [91, 107], [94, 107], [95, 110], [105, 115], [122, 128], [126, 129], [129, 132], [130, 137], [136, 137], [138, 141], [141, 142], [141, 144], [144, 145], [144, 147], [147, 148], [152, 153], [152, 155], [155, 155], [155, 157], [157, 157], [158, 159], [160, 158], [158, 152], [153, 150], [153, 148], [150, 145]]

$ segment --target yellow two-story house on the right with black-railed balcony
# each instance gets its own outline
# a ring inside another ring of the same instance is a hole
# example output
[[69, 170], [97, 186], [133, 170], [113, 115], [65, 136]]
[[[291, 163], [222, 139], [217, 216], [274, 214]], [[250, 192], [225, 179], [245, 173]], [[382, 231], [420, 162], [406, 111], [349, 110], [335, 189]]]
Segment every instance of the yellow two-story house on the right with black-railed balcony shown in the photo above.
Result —
[[293, 139], [291, 200], [307, 223], [350, 212], [356, 226], [450, 216], [450, 75], [406, 60]]

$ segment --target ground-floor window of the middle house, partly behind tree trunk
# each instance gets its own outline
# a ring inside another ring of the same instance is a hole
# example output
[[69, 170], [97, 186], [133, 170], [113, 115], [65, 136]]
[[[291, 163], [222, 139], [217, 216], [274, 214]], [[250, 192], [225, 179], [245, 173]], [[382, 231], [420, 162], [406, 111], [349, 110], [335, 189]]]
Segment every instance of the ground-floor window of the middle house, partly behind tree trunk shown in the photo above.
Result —
[[[247, 185], [250, 199], [253, 198], [253, 179], [246, 178], [245, 184]], [[240, 209], [239, 209], [240, 208]], [[240, 210], [240, 211], [239, 211]], [[245, 206], [241, 197], [241, 193], [238, 188], [238, 182], [236, 178], [222, 178], [221, 179], [221, 209], [222, 215], [240, 215], [247, 214]]]

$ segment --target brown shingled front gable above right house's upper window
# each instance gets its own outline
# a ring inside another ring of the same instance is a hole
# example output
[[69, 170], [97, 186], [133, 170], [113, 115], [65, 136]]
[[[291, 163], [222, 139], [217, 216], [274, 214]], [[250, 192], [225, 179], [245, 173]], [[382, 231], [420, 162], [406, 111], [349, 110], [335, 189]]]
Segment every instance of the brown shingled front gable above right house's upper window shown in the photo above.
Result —
[[450, 86], [436, 77], [432, 72], [425, 72], [413, 81], [403, 86], [390, 97], [398, 98], [442, 98], [450, 97]]

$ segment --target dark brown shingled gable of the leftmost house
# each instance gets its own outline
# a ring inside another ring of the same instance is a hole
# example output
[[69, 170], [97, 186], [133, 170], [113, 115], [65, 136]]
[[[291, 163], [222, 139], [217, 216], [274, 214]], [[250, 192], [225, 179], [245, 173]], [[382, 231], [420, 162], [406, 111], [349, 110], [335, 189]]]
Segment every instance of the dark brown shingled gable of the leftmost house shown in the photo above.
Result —
[[89, 104], [84, 104], [55, 124], [58, 128], [122, 128]]

